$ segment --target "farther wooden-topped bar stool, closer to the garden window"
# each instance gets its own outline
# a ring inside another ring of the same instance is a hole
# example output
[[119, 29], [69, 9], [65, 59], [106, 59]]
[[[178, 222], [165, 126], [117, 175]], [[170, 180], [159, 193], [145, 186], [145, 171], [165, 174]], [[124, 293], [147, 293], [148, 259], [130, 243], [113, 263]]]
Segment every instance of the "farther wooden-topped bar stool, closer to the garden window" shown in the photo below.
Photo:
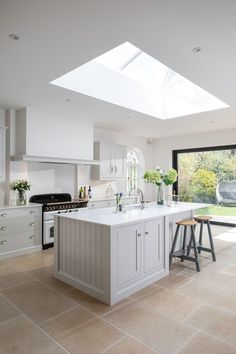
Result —
[[[216, 253], [215, 253], [215, 247], [214, 247], [213, 237], [212, 237], [212, 233], [211, 233], [211, 225], [210, 225], [210, 220], [211, 219], [212, 218], [210, 216], [204, 216], [204, 215], [196, 216], [194, 218], [194, 220], [196, 220], [200, 224], [199, 240], [198, 240], [198, 243], [197, 243], [198, 253], [200, 254], [201, 251], [211, 253], [212, 254], [212, 260], [213, 260], [213, 262], [215, 262], [216, 261]], [[202, 236], [203, 236], [203, 225], [204, 224], [207, 225], [210, 248], [202, 246]], [[191, 247], [191, 245], [190, 245], [190, 247]]]

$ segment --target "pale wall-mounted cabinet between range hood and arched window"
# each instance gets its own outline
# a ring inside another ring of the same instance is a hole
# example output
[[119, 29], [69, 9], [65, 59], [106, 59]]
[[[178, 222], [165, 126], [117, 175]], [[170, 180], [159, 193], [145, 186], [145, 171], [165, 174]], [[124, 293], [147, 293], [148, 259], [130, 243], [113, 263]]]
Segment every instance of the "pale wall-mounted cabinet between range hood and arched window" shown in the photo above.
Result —
[[126, 154], [124, 145], [94, 143], [94, 159], [100, 166], [92, 166], [92, 179], [116, 180], [126, 178]]

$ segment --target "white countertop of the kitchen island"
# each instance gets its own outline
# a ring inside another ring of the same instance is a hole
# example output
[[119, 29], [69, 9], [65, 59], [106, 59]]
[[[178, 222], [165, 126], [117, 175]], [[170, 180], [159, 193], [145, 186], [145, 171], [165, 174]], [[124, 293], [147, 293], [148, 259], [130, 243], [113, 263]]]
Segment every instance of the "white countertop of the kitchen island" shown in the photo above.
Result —
[[116, 213], [113, 208], [99, 208], [99, 209], [81, 209], [78, 212], [68, 214], [60, 214], [56, 217], [65, 217], [68, 219], [86, 221], [94, 224], [118, 226], [131, 222], [137, 222], [145, 219], [153, 219], [167, 215], [177, 214], [185, 211], [196, 210], [209, 206], [203, 203], [178, 203], [175, 206], [157, 205], [156, 203], [149, 203], [143, 210], [132, 209], [132, 206], [124, 212]]

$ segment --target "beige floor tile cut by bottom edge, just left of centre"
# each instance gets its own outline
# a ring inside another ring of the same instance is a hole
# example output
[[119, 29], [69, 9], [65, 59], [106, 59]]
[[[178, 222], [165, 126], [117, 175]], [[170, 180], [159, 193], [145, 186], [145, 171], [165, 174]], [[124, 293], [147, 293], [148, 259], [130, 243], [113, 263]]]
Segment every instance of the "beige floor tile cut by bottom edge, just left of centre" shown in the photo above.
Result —
[[100, 354], [123, 336], [120, 330], [95, 319], [59, 339], [59, 342], [71, 354]]

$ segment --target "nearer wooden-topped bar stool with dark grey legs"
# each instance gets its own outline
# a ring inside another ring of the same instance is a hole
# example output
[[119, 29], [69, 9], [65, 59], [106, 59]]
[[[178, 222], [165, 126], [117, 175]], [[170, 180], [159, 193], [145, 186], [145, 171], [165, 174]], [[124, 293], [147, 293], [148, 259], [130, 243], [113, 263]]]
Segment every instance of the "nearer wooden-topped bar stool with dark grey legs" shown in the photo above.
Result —
[[[171, 269], [172, 265], [172, 260], [173, 257], [177, 257], [181, 259], [181, 262], [183, 262], [185, 259], [191, 262], [194, 262], [196, 264], [196, 269], [198, 272], [200, 272], [200, 266], [199, 266], [199, 261], [198, 261], [198, 250], [197, 250], [197, 243], [195, 239], [195, 232], [194, 228], [197, 225], [197, 221], [195, 220], [183, 220], [183, 221], [177, 221], [176, 222], [177, 228], [175, 231], [175, 236], [173, 240], [173, 244], [171, 247], [170, 251], [170, 258], [169, 258], [169, 266]], [[179, 230], [180, 227], [184, 227], [184, 237], [183, 237], [183, 243], [182, 243], [182, 248], [178, 251], [175, 251], [178, 235], [179, 235]], [[190, 242], [188, 247], [186, 247], [186, 237], [187, 237], [187, 228], [190, 228]], [[190, 250], [191, 250], [191, 245], [193, 243], [193, 250], [194, 250], [194, 257], [190, 256]], [[189, 249], [190, 247], [190, 249]]]

